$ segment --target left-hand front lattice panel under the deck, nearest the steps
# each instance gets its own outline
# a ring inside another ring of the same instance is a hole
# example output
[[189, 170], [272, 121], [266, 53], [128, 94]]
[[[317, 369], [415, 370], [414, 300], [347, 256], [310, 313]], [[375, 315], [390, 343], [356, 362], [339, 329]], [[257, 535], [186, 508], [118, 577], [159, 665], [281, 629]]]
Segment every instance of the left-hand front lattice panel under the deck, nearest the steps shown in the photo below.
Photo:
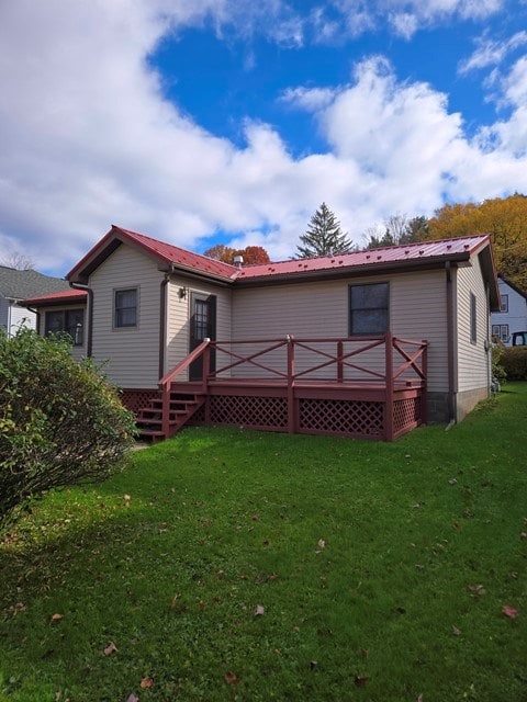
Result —
[[213, 424], [280, 431], [288, 427], [288, 401], [284, 397], [213, 396], [210, 417]]

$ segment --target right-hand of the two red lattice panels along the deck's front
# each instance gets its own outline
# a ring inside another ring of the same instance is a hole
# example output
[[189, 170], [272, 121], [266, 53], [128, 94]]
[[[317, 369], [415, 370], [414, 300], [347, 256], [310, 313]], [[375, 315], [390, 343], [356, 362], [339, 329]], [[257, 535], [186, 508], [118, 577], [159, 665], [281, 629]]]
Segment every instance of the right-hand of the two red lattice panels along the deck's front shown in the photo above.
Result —
[[383, 403], [301, 399], [300, 430], [347, 437], [383, 437]]

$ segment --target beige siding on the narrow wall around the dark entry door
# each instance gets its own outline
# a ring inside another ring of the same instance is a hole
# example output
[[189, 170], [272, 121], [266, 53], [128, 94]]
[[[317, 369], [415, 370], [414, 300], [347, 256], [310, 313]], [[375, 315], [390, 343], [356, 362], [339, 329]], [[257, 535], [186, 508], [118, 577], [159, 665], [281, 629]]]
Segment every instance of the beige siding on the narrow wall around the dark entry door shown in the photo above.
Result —
[[[179, 297], [181, 287], [187, 288], [184, 297]], [[213, 283], [198, 283], [195, 280], [176, 276], [167, 290], [167, 353], [165, 372], [173, 369], [189, 353], [190, 303], [192, 293], [216, 296], [216, 339], [231, 339], [232, 291]], [[187, 373], [178, 378], [184, 381]]]

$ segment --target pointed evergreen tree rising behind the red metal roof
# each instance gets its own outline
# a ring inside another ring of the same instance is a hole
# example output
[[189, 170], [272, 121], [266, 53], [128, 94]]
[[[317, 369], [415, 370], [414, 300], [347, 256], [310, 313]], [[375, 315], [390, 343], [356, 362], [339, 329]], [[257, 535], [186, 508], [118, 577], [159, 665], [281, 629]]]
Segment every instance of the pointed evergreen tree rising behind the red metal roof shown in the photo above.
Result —
[[315, 256], [336, 256], [348, 253], [355, 249], [348, 235], [340, 229], [340, 223], [325, 202], [311, 217], [307, 229], [300, 237], [303, 246], [296, 247], [299, 259], [311, 259]]

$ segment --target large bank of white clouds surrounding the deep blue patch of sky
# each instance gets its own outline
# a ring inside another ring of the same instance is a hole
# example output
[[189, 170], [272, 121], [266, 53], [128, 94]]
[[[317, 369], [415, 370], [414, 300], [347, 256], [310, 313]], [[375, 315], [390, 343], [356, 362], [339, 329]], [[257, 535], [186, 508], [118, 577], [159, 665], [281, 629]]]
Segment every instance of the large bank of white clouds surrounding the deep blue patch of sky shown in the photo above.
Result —
[[188, 248], [223, 229], [288, 258], [323, 200], [360, 241], [395, 212], [431, 214], [445, 195], [527, 191], [525, 61], [503, 78], [511, 120], [473, 141], [445, 94], [399, 82], [382, 57], [360, 63], [349, 84], [284, 93], [312, 112], [326, 152], [295, 159], [254, 121], [243, 148], [201, 128], [164, 99], [147, 58], [182, 23], [226, 26], [229, 7], [1, 5], [0, 245], [61, 274], [114, 222]]

